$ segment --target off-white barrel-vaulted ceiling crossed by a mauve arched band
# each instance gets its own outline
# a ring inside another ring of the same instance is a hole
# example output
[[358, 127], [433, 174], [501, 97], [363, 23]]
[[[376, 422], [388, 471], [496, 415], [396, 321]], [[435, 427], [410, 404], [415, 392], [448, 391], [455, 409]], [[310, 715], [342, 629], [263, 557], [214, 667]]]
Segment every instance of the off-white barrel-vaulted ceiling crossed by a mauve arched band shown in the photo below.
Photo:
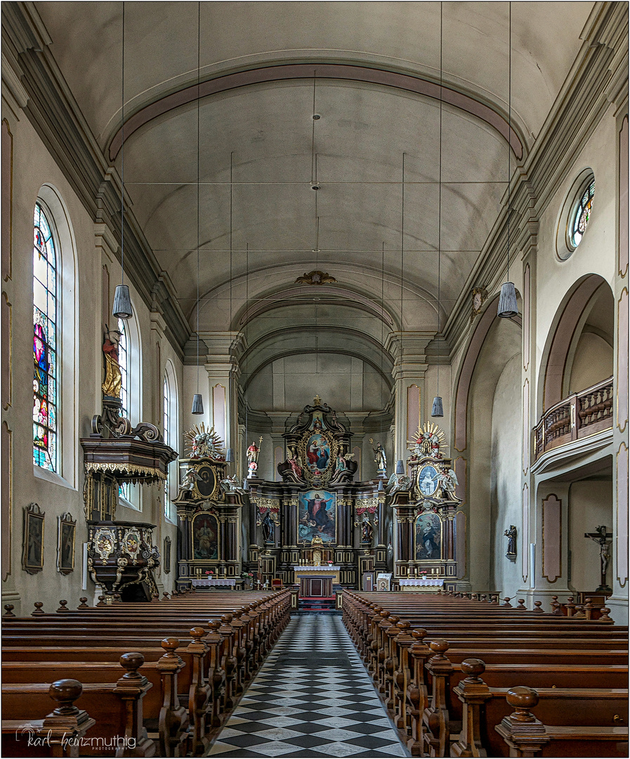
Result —
[[[120, 170], [122, 4], [35, 5], [83, 115]], [[593, 5], [512, 3], [512, 170], [569, 74]], [[202, 331], [242, 329], [243, 314], [265, 298], [281, 299], [265, 311], [270, 333], [283, 321], [298, 323], [299, 313], [312, 317], [316, 288], [293, 291], [293, 283], [323, 269], [337, 291], [331, 285], [328, 310], [316, 306], [322, 324], [374, 339], [391, 329], [435, 332], [440, 236], [444, 326], [506, 189], [508, 9], [444, 3], [450, 95], [440, 230], [440, 107], [430, 96], [440, 77], [439, 3], [203, 2], [199, 76], [211, 93], [199, 114], [197, 3], [125, 3], [125, 187], [191, 326], [198, 118]], [[268, 74], [274, 66], [284, 73]], [[312, 143], [314, 76], [321, 118]], [[352, 310], [353, 298], [384, 302], [389, 321]], [[345, 307], [337, 322], [335, 301]]]

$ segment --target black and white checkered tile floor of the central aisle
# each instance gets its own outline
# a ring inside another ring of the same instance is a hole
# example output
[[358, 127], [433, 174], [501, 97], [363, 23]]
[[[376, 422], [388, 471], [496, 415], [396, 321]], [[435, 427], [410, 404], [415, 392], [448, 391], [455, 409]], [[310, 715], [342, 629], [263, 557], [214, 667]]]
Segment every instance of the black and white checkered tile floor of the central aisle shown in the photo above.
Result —
[[340, 617], [295, 616], [212, 757], [405, 757]]

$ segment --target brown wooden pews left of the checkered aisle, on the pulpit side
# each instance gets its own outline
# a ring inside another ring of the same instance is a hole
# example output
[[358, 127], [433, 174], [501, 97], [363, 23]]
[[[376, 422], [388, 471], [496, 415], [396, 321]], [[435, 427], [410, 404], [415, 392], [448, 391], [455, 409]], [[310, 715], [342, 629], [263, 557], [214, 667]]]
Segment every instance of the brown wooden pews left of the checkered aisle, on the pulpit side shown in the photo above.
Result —
[[85, 602], [5, 607], [3, 756], [201, 755], [290, 619], [289, 591]]

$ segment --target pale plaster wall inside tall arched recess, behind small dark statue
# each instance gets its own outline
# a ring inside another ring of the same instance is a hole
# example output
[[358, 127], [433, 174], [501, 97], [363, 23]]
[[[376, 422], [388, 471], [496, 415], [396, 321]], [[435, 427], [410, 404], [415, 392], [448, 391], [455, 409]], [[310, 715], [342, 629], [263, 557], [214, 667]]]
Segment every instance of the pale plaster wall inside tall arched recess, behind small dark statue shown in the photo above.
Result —
[[[515, 442], [521, 420], [521, 356], [517, 354], [506, 364], [499, 377], [492, 403], [492, 469], [491, 469], [491, 536], [494, 561], [492, 590], [512, 597], [519, 587], [520, 556], [516, 562], [506, 559], [507, 538], [503, 534], [516, 524], [519, 535], [521, 518], [521, 461], [515, 455]], [[517, 546], [519, 540], [517, 540]], [[517, 549], [518, 550], [518, 549]]]

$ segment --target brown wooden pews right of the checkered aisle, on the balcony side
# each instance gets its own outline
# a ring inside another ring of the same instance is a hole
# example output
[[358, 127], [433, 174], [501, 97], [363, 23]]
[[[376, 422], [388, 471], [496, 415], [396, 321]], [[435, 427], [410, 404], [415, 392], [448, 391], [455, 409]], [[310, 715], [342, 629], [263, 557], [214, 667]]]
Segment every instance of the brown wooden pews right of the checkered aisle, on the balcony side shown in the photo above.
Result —
[[608, 611], [343, 594], [346, 628], [412, 756], [627, 757], [628, 628]]

